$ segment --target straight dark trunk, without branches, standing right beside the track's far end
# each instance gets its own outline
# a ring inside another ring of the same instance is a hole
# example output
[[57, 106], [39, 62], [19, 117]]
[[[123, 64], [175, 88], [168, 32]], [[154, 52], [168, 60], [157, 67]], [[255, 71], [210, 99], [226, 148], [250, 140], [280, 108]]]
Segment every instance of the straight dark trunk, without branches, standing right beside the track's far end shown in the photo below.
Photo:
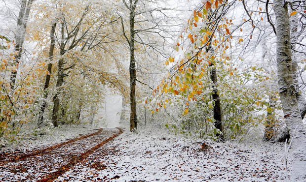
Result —
[[130, 131], [137, 130], [137, 114], [136, 114], [136, 61], [135, 61], [135, 8], [138, 0], [130, 0]]

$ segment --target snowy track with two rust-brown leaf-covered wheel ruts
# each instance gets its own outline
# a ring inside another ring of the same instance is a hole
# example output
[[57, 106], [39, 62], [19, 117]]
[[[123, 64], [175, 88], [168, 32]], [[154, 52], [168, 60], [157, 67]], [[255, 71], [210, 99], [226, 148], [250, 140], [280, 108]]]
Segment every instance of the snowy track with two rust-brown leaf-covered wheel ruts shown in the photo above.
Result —
[[40, 151], [1, 156], [0, 181], [52, 181], [121, 132], [120, 129], [119, 132], [118, 129], [103, 129]]

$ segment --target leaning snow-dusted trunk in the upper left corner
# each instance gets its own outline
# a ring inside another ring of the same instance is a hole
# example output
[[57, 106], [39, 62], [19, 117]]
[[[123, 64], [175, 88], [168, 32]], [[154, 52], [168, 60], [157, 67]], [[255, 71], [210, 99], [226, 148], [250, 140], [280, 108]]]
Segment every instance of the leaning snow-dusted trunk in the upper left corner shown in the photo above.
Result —
[[30, 10], [32, 6], [33, 0], [22, 0], [20, 2], [20, 12], [17, 19], [17, 31], [15, 33], [16, 36], [16, 45], [15, 45], [15, 51], [17, 52], [17, 55], [15, 57], [15, 70], [12, 70], [11, 77], [10, 77], [10, 85], [11, 89], [13, 90], [15, 87], [16, 82], [16, 76], [18, 72], [18, 67], [23, 51], [23, 43], [25, 39], [27, 24], [29, 20]]

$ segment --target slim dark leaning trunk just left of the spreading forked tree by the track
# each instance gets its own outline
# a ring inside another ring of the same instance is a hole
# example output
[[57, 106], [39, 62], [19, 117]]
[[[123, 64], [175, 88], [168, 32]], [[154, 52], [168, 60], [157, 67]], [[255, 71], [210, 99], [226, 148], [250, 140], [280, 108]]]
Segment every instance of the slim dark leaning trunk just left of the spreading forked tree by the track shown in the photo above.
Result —
[[[65, 54], [65, 47], [64, 47], [64, 23], [61, 25], [61, 52], [60, 55], [63, 56]], [[54, 127], [58, 126], [58, 111], [60, 107], [60, 98], [59, 95], [61, 92], [60, 87], [63, 86], [64, 82], [64, 60], [60, 58], [58, 61], [58, 70], [57, 70], [57, 81], [56, 81], [56, 93], [54, 95], [54, 105], [52, 111], [52, 123]]]

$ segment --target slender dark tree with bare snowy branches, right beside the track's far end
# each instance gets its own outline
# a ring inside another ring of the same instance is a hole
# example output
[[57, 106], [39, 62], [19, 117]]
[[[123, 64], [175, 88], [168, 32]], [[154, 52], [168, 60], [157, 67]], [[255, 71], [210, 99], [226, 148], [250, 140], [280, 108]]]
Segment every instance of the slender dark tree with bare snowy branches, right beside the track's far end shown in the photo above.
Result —
[[[148, 84], [137, 79], [137, 61], [135, 50], [139, 44], [143, 47], [148, 57], [160, 55], [165, 57], [164, 47], [167, 39], [173, 37], [173, 31], [167, 30], [171, 25], [167, 22], [170, 17], [164, 11], [173, 10], [159, 6], [161, 1], [152, 0], [122, 0], [125, 8], [127, 8], [128, 30], [125, 29], [123, 16], [121, 16], [121, 26], [123, 36], [129, 46], [129, 73], [130, 73], [130, 131], [137, 130], [137, 108], [136, 108], [136, 82], [149, 86]], [[165, 1], [162, 1], [165, 3]], [[155, 14], [154, 14], [155, 13]], [[158, 14], [158, 15], [156, 15]], [[175, 18], [173, 18], [175, 20]], [[154, 40], [152, 37], [157, 37]], [[139, 47], [139, 46], [138, 46]], [[149, 51], [151, 49], [151, 52]], [[150, 86], [149, 86], [150, 87]]]

